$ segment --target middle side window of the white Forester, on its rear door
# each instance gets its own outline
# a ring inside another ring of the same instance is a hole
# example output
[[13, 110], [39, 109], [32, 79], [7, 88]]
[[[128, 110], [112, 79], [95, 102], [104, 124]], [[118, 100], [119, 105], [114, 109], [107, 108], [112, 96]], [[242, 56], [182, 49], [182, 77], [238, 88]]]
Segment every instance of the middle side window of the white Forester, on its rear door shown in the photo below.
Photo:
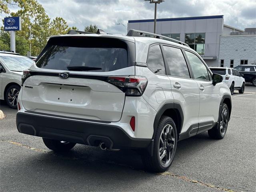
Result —
[[172, 76], [190, 78], [181, 49], [164, 46], [164, 54]]

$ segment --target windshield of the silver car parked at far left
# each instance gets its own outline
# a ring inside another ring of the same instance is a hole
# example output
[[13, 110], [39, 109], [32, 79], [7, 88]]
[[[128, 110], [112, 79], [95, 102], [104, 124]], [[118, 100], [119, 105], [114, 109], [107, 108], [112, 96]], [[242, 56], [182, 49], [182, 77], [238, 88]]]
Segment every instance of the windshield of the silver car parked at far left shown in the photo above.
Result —
[[26, 70], [33, 64], [33, 60], [22, 56], [0, 56], [0, 60], [10, 71]]

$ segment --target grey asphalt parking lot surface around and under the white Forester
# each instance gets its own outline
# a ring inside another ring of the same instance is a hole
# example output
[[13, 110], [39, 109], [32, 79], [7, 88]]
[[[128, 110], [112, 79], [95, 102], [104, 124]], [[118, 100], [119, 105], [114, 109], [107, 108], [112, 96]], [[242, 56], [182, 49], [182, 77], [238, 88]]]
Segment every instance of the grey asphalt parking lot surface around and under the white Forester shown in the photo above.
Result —
[[226, 136], [206, 132], [178, 142], [167, 172], [144, 172], [132, 150], [76, 145], [68, 154], [48, 150], [42, 138], [18, 133], [16, 110], [1, 101], [0, 191], [256, 191], [256, 88], [232, 96]]

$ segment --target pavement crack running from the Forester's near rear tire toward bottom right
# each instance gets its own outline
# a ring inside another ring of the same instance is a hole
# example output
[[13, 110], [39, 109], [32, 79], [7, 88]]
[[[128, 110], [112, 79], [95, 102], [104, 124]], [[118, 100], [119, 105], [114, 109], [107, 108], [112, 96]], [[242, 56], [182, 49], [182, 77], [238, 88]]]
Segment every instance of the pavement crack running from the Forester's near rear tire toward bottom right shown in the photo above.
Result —
[[237, 192], [235, 190], [232, 190], [232, 189], [228, 189], [228, 188], [221, 188], [221, 187], [218, 187], [218, 186], [215, 186], [215, 185], [212, 185], [212, 184], [207, 184], [207, 183], [204, 183], [202, 181], [198, 181], [198, 180], [192, 180], [190, 178], [187, 178], [186, 176], [179, 176], [179, 175], [176, 175], [176, 174], [173, 174], [171, 172], [163, 172], [163, 173], [158, 173], [159, 175], [164, 175], [164, 176], [172, 176], [172, 177], [175, 177], [175, 178], [179, 178], [179, 179], [182, 179], [186, 182], [192, 182], [192, 183], [197, 183], [197, 184], [200, 184], [202, 186], [207, 186], [207, 187], [210, 187], [210, 188], [215, 188], [215, 189], [218, 189], [218, 190], [222, 190], [222, 191], [226, 191], [226, 192]]

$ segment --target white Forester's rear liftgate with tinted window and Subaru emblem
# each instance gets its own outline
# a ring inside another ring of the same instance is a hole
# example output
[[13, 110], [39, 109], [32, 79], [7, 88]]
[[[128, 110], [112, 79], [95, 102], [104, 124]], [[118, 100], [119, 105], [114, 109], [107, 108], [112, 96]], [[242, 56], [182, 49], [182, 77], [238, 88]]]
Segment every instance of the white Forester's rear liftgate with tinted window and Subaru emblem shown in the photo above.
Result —
[[33, 112], [118, 121], [125, 93], [113, 84], [135, 74], [133, 51], [134, 43], [114, 38], [51, 38], [30, 68], [22, 104]]

